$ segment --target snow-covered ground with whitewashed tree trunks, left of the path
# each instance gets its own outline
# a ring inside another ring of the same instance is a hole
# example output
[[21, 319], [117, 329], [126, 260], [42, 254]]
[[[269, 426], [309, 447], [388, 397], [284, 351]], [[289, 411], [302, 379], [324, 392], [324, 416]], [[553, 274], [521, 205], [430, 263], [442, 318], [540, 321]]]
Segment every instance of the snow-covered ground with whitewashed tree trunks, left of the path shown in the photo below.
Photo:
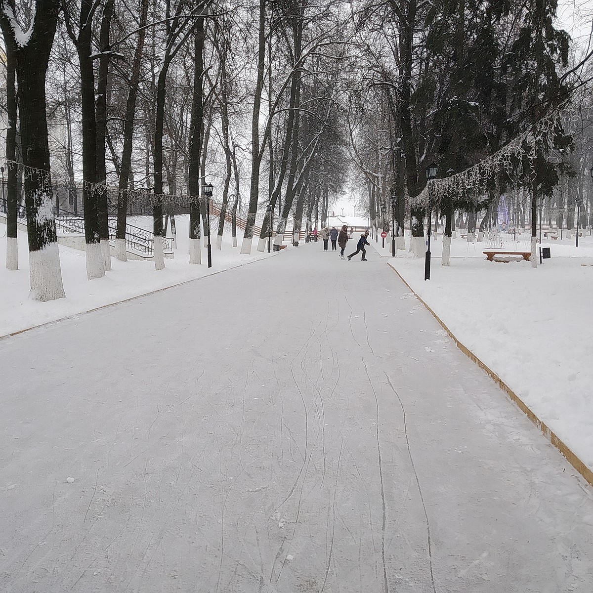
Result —
[[[240, 247], [232, 247], [230, 229], [225, 231], [222, 250], [212, 246], [212, 268], [208, 269], [206, 249], [202, 249], [202, 265], [190, 265], [187, 255], [189, 237], [189, 217], [177, 218], [177, 251], [175, 259], [165, 260], [165, 269], [155, 272], [154, 262], [129, 261], [119, 262], [111, 258], [113, 270], [104, 278], [87, 280], [87, 268], [84, 251], [60, 245], [60, 262], [66, 298], [58, 301], [40, 303], [28, 298], [29, 293], [29, 262], [27, 235], [18, 231], [18, 254], [20, 270], [7, 270], [6, 260], [6, 226], [0, 223], [0, 336], [15, 331], [28, 329], [49, 321], [55, 321], [69, 315], [83, 313], [91, 309], [109, 305], [122, 299], [136, 297], [195, 278], [201, 278], [220, 272], [229, 267], [254, 262], [267, 253], [256, 250], [257, 240], [253, 241], [250, 256], [241, 255]], [[152, 219], [148, 216], [136, 216], [130, 219], [133, 224], [152, 229]], [[241, 245], [241, 237], [238, 244]], [[216, 237], [211, 238], [216, 243]]]

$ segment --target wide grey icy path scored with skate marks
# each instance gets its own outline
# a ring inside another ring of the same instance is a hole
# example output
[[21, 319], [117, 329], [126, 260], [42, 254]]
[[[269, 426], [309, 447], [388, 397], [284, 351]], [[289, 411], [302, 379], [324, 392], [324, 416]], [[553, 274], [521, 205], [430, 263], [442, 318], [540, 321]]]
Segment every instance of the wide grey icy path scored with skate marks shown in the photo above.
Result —
[[0, 590], [593, 590], [591, 490], [406, 291], [310, 244], [0, 342]]

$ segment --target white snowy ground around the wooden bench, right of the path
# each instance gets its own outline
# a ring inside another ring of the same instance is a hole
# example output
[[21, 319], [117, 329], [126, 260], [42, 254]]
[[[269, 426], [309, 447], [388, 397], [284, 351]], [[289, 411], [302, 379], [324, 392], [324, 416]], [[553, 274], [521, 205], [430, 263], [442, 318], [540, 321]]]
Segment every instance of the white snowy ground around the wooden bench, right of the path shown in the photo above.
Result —
[[[509, 238], [505, 247], [514, 250]], [[373, 246], [375, 242], [372, 241]], [[381, 240], [379, 241], [381, 246]], [[484, 260], [486, 243], [452, 241], [451, 267], [433, 242], [431, 280], [424, 260], [390, 259], [455, 336], [495, 371], [589, 467], [593, 468], [593, 242], [544, 243], [551, 259]], [[519, 250], [529, 250], [527, 244]], [[385, 252], [384, 252], [385, 253]]]

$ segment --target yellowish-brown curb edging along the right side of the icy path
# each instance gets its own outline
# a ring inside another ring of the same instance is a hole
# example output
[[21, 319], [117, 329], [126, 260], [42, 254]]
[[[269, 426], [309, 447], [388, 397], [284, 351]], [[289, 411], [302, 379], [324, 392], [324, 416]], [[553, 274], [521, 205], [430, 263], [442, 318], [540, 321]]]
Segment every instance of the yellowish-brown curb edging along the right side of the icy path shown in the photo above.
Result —
[[412, 286], [410, 286], [406, 282], [406, 280], [404, 280], [403, 276], [397, 271], [393, 264], [391, 264], [391, 262], [387, 262], [387, 265], [399, 276], [400, 280], [407, 286], [407, 288], [413, 293], [413, 295], [425, 306], [426, 310], [428, 310], [429, 313], [431, 313], [431, 315], [436, 319], [436, 321], [438, 321], [442, 329], [444, 329], [447, 332], [448, 336], [455, 342], [455, 345], [458, 347], [458, 349], [460, 349], [461, 352], [463, 352], [464, 355], [467, 356], [467, 358], [474, 362], [474, 364], [479, 366], [486, 373], [486, 375], [488, 375], [500, 387], [500, 389], [502, 389], [502, 391], [505, 391], [509, 398], [511, 398], [511, 400], [514, 401], [515, 404], [517, 404], [521, 412], [523, 412], [525, 416], [527, 416], [528, 419], [530, 419], [531, 422], [533, 422], [535, 426], [537, 426], [537, 428], [540, 429], [541, 433], [546, 437], [546, 439], [554, 447], [556, 447], [560, 451], [560, 453], [562, 453], [562, 455], [566, 458], [566, 461], [568, 461], [568, 463], [570, 463], [570, 465], [573, 468], [575, 468], [575, 470], [578, 471], [579, 474], [581, 474], [581, 476], [586, 480], [586, 482], [588, 482], [590, 486], [593, 486], [593, 471], [589, 467], [587, 467], [581, 461], [581, 459], [579, 459], [575, 452], [573, 452], [572, 449], [570, 449], [568, 445], [566, 445], [566, 443], [563, 442], [562, 439], [560, 439], [559, 436], [557, 436], [556, 433], [552, 431], [549, 426], [546, 425], [546, 423], [540, 420], [534, 414], [534, 412], [531, 411], [530, 407], [524, 403], [524, 401], [511, 389], [511, 387], [509, 387], [509, 385], [507, 385], [480, 358], [478, 358], [473, 352], [471, 352], [471, 350], [466, 345], [464, 345], [460, 342], [460, 340], [457, 339], [457, 336], [455, 336], [455, 334], [447, 327], [447, 325], [445, 325], [444, 321], [442, 321], [441, 318], [431, 309], [431, 307], [429, 307], [428, 304], [426, 304], [426, 302], [417, 294], [417, 292], [412, 288]]

